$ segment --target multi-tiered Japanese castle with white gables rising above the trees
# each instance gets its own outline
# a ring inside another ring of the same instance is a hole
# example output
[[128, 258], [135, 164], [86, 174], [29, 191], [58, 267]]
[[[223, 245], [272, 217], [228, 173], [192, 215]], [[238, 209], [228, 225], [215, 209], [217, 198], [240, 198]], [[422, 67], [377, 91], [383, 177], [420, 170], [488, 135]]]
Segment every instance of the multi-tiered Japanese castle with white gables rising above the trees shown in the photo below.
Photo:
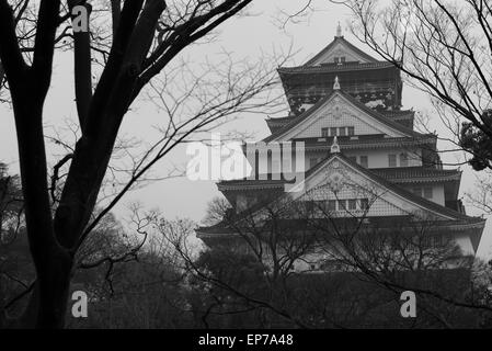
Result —
[[[339, 25], [319, 54], [278, 73], [290, 109], [266, 120], [272, 134], [249, 155], [255, 177], [218, 183], [233, 220], [261, 217], [265, 205], [286, 201], [322, 206], [339, 223], [364, 218], [388, 230], [417, 218], [432, 220], [431, 246], [451, 241], [464, 256], [474, 256], [485, 220], [466, 214], [458, 199], [461, 172], [443, 168], [437, 136], [416, 132], [414, 111], [402, 109], [397, 67], [351, 44]], [[276, 157], [285, 151], [272, 145], [286, 141], [300, 148], [302, 165], [299, 154]], [[285, 160], [287, 168], [304, 169], [289, 191]], [[238, 233], [222, 222], [198, 228], [197, 236], [214, 246]]]

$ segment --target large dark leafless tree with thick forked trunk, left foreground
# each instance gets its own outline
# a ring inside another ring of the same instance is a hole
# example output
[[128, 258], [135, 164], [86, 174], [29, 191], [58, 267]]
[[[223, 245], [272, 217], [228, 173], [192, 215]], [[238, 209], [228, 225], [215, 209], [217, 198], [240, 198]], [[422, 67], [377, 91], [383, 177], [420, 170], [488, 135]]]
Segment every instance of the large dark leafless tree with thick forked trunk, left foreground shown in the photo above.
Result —
[[[91, 14], [92, 7], [84, 0], [67, 3], [0, 0], [1, 72], [13, 105], [26, 231], [36, 270], [27, 308], [21, 319], [11, 321], [13, 326], [62, 327], [75, 257], [98, 222], [151, 166], [191, 134], [238, 111], [259, 106], [254, 98], [273, 84], [274, 76], [251, 66], [238, 75], [227, 68], [217, 70], [219, 79], [213, 86], [211, 95], [194, 90], [184, 92], [184, 97], [193, 95], [195, 103], [198, 102], [195, 113], [176, 116], [175, 109], [168, 113], [163, 137], [144, 152], [122, 191], [92, 220], [118, 129], [131, 103], [184, 48], [206, 37], [250, 2], [116, 0], [107, 4], [99, 1], [92, 3], [101, 10], [93, 11], [99, 15], [98, 23], [108, 22], [111, 18], [112, 26], [107, 32], [99, 26], [95, 30], [100, 35], [91, 35], [92, 21], [87, 23], [89, 31], [71, 33], [69, 26], [61, 29], [72, 13], [80, 13], [80, 8], [76, 9], [78, 12], [72, 11], [76, 5]], [[68, 45], [73, 45], [75, 53], [80, 137], [73, 151], [55, 166], [56, 171], [67, 165], [69, 169], [54, 210], [47, 179], [43, 109], [55, 49], [64, 46], [67, 38], [72, 38]], [[93, 52], [99, 58], [93, 57]], [[92, 87], [94, 65], [99, 68], [94, 70], [99, 77], [95, 89]], [[199, 81], [201, 77], [195, 77], [193, 87], [199, 87]], [[163, 81], [161, 88], [167, 89], [168, 83]]]

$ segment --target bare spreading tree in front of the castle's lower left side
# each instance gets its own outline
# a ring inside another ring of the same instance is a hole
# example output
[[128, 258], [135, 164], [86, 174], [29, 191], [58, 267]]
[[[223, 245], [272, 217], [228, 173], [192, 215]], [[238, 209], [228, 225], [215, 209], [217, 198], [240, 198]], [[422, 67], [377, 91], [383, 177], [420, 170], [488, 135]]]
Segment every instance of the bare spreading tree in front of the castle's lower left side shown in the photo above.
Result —
[[181, 257], [180, 269], [187, 272], [197, 291], [209, 293], [209, 299], [197, 298], [192, 304], [193, 313], [199, 315], [205, 327], [209, 317], [227, 318], [243, 313], [258, 314], [263, 327], [270, 325], [265, 317], [268, 314], [293, 326], [306, 327], [288, 308], [296, 305], [288, 285], [294, 262], [312, 249], [313, 237], [307, 231], [299, 235], [297, 229], [295, 236], [284, 222], [289, 215], [285, 208], [272, 207], [266, 213], [268, 219], [259, 220], [247, 211], [238, 222], [226, 202], [214, 201], [207, 222], [217, 224], [221, 218], [219, 226], [236, 231], [237, 236], [219, 240], [210, 251], [204, 251], [193, 239], [192, 223], [159, 220], [158, 231]]

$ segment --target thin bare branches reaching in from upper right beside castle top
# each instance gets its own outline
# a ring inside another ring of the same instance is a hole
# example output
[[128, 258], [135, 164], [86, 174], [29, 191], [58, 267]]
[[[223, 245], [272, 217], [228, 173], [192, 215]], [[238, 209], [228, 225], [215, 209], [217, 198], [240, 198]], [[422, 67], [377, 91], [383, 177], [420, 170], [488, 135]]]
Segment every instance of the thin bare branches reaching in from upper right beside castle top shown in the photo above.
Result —
[[490, 168], [492, 12], [488, 1], [333, 1], [354, 15], [352, 32], [426, 92], [476, 170]]

